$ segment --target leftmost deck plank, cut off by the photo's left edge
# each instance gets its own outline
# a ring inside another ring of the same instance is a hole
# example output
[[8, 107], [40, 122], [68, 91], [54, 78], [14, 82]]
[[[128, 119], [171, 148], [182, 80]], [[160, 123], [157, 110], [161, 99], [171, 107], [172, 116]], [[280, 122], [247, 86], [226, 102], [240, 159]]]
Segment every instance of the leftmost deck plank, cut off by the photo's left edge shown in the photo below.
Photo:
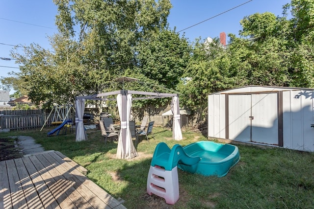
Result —
[[10, 186], [5, 161], [0, 161], [0, 209], [12, 208]]

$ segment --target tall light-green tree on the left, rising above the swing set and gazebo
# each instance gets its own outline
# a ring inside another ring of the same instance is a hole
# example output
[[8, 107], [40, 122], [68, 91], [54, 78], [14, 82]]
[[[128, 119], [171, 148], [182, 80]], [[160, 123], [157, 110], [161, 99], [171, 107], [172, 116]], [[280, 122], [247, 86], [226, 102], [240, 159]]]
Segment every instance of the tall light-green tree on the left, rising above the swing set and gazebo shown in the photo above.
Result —
[[[169, 0], [54, 0], [59, 33], [53, 52], [36, 44], [13, 53], [35, 103], [73, 103], [75, 96], [115, 87], [112, 79], [134, 70], [137, 46], [164, 29]], [[79, 28], [75, 31], [74, 28]]]

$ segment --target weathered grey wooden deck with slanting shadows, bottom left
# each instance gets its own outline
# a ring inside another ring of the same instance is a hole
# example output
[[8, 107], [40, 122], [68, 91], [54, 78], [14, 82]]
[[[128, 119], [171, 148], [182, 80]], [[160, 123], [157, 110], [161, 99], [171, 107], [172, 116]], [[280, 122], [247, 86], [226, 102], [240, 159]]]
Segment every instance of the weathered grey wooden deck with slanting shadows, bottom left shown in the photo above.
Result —
[[0, 162], [0, 209], [125, 209], [57, 151]]

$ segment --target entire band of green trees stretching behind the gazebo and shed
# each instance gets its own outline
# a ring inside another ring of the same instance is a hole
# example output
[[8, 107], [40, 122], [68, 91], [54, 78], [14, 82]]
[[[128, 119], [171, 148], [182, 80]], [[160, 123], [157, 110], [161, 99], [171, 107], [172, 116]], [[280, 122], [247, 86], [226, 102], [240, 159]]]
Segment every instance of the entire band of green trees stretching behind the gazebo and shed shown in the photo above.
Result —
[[314, 0], [291, 0], [282, 17], [244, 17], [228, 46], [215, 38], [189, 43], [169, 29], [170, 0], [54, 2], [59, 33], [50, 37], [53, 52], [25, 47], [24, 54], [13, 54], [21, 73], [1, 79], [37, 103], [117, 90], [121, 85], [112, 80], [121, 76], [142, 81], [127, 88], [148, 90], [152, 83], [154, 91], [180, 92], [190, 109], [205, 109], [208, 93], [239, 86], [314, 88]]

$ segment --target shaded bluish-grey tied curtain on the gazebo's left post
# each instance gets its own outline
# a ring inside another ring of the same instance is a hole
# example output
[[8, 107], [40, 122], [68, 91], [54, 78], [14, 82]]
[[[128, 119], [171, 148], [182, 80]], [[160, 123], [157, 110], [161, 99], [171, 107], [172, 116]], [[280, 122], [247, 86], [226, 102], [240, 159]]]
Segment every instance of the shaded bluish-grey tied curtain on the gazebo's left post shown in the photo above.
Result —
[[75, 101], [76, 117], [75, 117], [75, 128], [76, 128], [76, 141], [87, 140], [87, 134], [84, 128], [83, 116], [85, 110], [85, 99], [77, 99]]

